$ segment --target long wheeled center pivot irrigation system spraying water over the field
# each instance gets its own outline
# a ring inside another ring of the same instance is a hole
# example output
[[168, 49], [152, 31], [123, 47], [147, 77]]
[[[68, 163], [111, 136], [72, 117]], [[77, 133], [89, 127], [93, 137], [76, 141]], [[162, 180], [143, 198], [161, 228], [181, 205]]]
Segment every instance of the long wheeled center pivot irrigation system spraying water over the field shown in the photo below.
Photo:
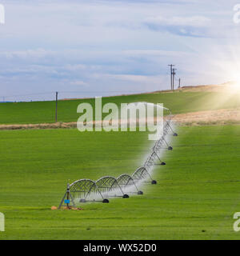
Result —
[[[70, 209], [72, 206], [75, 207], [78, 203], [83, 202], [109, 202], [109, 198], [129, 198], [128, 194], [143, 194], [138, 189], [138, 185], [142, 182], [157, 184], [157, 181], [151, 177], [151, 170], [155, 165], [166, 165], [159, 156], [161, 150], [173, 150], [172, 146], [166, 141], [166, 136], [178, 136], [172, 127], [173, 116], [171, 111], [167, 108], [164, 109], [169, 111], [169, 114], [164, 120], [163, 134], [155, 142], [154, 147], [151, 148], [150, 155], [146, 158], [143, 166], [135, 170], [132, 175], [122, 174], [118, 178], [104, 176], [97, 181], [84, 178], [72, 184], [67, 184], [66, 193], [58, 209], [61, 209], [63, 204]], [[157, 160], [159, 161], [158, 164], [155, 163]]]

